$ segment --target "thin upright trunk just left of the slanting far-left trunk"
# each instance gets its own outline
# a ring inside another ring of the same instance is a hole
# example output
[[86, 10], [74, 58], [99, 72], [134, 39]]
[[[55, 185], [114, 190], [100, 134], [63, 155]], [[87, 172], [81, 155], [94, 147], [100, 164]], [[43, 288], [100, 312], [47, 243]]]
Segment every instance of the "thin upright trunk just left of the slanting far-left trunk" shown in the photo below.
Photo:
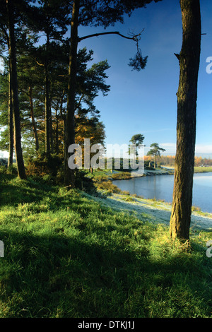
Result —
[[14, 150], [14, 139], [13, 139], [13, 105], [11, 100], [11, 69], [9, 64], [8, 71], [8, 164], [7, 167], [13, 165], [13, 150]]

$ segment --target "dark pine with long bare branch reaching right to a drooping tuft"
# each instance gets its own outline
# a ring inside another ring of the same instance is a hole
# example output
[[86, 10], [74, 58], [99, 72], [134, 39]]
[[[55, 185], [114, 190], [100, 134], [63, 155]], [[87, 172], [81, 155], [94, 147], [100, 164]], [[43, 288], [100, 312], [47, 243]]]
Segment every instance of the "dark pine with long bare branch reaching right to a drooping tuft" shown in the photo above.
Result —
[[[158, 2], [160, 0], [155, 0]], [[68, 85], [68, 101], [67, 101], [67, 119], [66, 119], [66, 142], [65, 142], [65, 184], [66, 186], [74, 187], [74, 170], [70, 170], [68, 167], [68, 150], [69, 146], [75, 143], [74, 132], [74, 109], [76, 102], [76, 59], [78, 42], [88, 37], [94, 37], [98, 35], [106, 35], [115, 33], [122, 37], [119, 32], [101, 32], [95, 35], [88, 35], [85, 37], [78, 37], [78, 25], [93, 25], [103, 26], [107, 28], [113, 25], [115, 22], [124, 21], [124, 13], [129, 15], [135, 8], [141, 8], [149, 4], [151, 0], [139, 0], [139, 1], [90, 1], [90, 0], [73, 0], [72, 14], [71, 14], [71, 42], [70, 42], [70, 56], [69, 56], [69, 85]], [[146, 66], [146, 59], [142, 57], [141, 50], [138, 46], [140, 34], [128, 39], [136, 41], [137, 54], [134, 59], [131, 59], [131, 66], [139, 70]]]

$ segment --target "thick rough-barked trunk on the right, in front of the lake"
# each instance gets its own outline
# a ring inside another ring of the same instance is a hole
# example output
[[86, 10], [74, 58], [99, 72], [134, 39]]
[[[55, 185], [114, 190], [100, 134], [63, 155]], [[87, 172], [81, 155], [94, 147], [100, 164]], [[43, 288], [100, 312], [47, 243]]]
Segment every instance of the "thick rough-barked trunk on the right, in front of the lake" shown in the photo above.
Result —
[[177, 91], [177, 151], [175, 182], [170, 218], [173, 239], [189, 239], [192, 215], [192, 188], [196, 141], [196, 98], [201, 48], [199, 0], [180, 0], [182, 11], [182, 49], [179, 59]]

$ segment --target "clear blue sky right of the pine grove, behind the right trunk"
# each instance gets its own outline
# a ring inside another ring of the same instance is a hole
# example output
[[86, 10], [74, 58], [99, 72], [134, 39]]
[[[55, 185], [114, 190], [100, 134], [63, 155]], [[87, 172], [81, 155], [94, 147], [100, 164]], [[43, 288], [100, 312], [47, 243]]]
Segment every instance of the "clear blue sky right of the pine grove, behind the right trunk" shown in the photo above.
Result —
[[[212, 73], [206, 73], [206, 58], [212, 57], [212, 1], [201, 1], [201, 63], [197, 100], [196, 155], [212, 158]], [[141, 32], [140, 47], [148, 55], [146, 69], [131, 71], [129, 58], [136, 45], [117, 35], [93, 37], [79, 43], [79, 48], [93, 49], [95, 62], [107, 59], [106, 97], [95, 100], [105, 124], [106, 144], [128, 144], [134, 134], [145, 136], [146, 151], [151, 143], [159, 143], [165, 154], [175, 154], [177, 124], [177, 88], [179, 64], [174, 53], [182, 44], [182, 20], [179, 0], [154, 2], [126, 16], [107, 31], [117, 30], [127, 35], [129, 30]], [[81, 27], [78, 35], [103, 32], [103, 28]]]

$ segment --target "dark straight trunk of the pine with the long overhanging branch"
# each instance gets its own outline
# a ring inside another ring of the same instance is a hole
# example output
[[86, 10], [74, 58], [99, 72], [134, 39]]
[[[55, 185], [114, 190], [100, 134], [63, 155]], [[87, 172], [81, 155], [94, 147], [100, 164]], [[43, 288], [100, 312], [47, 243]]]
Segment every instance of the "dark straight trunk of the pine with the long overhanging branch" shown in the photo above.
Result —
[[80, 0], [73, 1], [72, 18], [71, 18], [71, 45], [69, 54], [69, 83], [68, 83], [68, 101], [66, 117], [66, 141], [65, 141], [65, 184], [66, 186], [75, 186], [75, 170], [68, 166], [68, 149], [71, 144], [75, 143], [74, 129], [74, 111], [76, 96], [76, 73], [77, 73], [77, 47], [78, 47], [78, 13]]

